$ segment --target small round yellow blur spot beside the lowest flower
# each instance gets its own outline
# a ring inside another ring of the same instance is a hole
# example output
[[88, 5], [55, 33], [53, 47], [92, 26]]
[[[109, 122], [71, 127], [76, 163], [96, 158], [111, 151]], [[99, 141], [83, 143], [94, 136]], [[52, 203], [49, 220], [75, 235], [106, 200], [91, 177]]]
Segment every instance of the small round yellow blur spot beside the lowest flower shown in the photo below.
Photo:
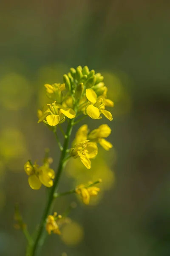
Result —
[[76, 222], [71, 222], [62, 229], [61, 238], [67, 245], [77, 245], [84, 237], [84, 231], [82, 227]]

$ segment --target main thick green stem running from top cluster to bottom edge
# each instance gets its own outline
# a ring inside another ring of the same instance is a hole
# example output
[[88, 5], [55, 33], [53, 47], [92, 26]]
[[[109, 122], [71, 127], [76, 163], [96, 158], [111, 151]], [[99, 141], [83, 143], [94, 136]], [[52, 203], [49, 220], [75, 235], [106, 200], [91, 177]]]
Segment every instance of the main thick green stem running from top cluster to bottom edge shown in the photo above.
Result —
[[67, 128], [67, 132], [66, 132], [67, 137], [65, 137], [65, 141], [64, 141], [64, 145], [63, 145], [63, 150], [62, 150], [61, 157], [60, 157], [60, 160], [59, 160], [59, 166], [58, 166], [58, 170], [57, 170], [57, 175], [56, 175], [55, 180], [54, 180], [54, 185], [51, 187], [51, 191], [50, 191], [50, 194], [49, 194], [48, 202], [47, 202], [47, 205], [45, 207], [44, 213], [42, 215], [40, 226], [39, 226], [39, 229], [37, 230], [37, 236], [36, 236], [36, 238], [34, 240], [34, 244], [33, 244], [32, 248], [31, 248], [31, 253], [30, 253], [29, 256], [34, 256], [35, 255], [35, 253], [37, 251], [37, 247], [39, 246], [40, 238], [41, 238], [41, 236], [43, 234], [43, 231], [44, 231], [44, 227], [45, 227], [45, 223], [46, 223], [46, 218], [47, 218], [47, 216], [48, 216], [48, 214], [50, 212], [51, 205], [52, 205], [52, 202], [53, 202], [53, 199], [54, 199], [54, 192], [58, 188], [59, 179], [60, 179], [60, 176], [61, 176], [61, 173], [62, 173], [63, 163], [64, 163], [66, 151], [68, 149], [68, 142], [69, 142], [69, 138], [71, 136], [71, 131], [72, 131], [72, 128], [73, 128], [73, 125], [72, 125], [73, 121], [74, 121], [74, 119], [70, 119], [70, 121], [68, 123], [68, 128]]

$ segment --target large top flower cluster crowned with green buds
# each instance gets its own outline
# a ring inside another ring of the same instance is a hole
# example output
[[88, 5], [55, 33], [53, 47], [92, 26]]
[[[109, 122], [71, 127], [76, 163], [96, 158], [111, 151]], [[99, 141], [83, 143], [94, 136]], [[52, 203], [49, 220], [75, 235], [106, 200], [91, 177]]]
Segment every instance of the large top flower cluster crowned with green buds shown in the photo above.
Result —
[[108, 88], [103, 79], [100, 73], [79, 66], [63, 76], [64, 83], [45, 84], [47, 96], [54, 102], [45, 111], [38, 110], [38, 122], [55, 127], [65, 122], [66, 117], [73, 119], [80, 114], [92, 119], [101, 119], [103, 114], [111, 121], [112, 114], [105, 108], [114, 104], [107, 98]]

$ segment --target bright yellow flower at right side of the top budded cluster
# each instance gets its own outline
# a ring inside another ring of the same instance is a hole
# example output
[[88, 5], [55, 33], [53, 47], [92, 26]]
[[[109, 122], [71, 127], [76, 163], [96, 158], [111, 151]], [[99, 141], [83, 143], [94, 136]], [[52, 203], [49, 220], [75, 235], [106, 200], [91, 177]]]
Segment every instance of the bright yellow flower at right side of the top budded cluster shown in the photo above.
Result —
[[100, 113], [102, 113], [110, 121], [113, 120], [111, 112], [105, 110], [104, 99], [101, 96], [97, 98], [97, 94], [93, 89], [86, 89], [86, 97], [90, 102], [90, 104], [87, 104], [85, 109], [88, 116], [92, 119], [101, 119], [102, 117], [100, 117]]

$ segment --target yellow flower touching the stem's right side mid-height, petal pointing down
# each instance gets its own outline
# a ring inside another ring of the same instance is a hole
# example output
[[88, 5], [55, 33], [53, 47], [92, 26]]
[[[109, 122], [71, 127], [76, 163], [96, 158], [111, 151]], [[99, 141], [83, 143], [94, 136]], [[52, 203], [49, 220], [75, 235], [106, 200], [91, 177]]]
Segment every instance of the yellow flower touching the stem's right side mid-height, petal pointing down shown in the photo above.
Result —
[[91, 168], [90, 159], [96, 157], [97, 153], [97, 144], [95, 142], [90, 142], [89, 140], [84, 140], [75, 144], [70, 151], [71, 156], [74, 158], [79, 157], [87, 169]]

